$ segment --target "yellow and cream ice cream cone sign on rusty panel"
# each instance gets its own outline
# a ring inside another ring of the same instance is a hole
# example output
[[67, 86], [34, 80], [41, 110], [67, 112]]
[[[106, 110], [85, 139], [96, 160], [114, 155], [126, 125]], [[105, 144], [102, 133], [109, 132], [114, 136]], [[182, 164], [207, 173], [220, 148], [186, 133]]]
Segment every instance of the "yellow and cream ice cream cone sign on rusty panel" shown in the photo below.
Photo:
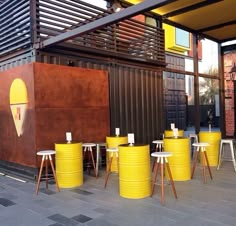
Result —
[[23, 124], [28, 106], [27, 88], [22, 79], [15, 79], [10, 88], [10, 108], [18, 136], [23, 134]]

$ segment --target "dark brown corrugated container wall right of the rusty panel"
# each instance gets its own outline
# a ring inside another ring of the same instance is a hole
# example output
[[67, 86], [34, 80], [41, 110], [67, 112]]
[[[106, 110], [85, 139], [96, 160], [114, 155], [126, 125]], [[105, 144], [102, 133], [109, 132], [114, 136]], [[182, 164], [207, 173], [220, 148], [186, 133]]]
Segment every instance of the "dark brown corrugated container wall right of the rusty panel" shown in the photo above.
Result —
[[113, 65], [110, 70], [111, 129], [134, 133], [136, 142], [159, 139], [162, 128], [162, 79], [147, 68]]

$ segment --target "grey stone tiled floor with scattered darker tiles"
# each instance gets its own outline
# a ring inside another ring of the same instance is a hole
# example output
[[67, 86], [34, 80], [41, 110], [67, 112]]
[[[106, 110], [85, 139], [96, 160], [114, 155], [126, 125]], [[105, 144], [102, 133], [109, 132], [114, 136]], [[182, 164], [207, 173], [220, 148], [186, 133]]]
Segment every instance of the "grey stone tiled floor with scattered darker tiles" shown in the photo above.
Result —
[[119, 195], [119, 179], [111, 174], [104, 189], [104, 170], [96, 179], [84, 173], [84, 184], [56, 192], [41, 183], [38, 196], [34, 181], [26, 183], [0, 176], [1, 226], [235, 226], [236, 173], [232, 162], [224, 162], [213, 180], [202, 183], [201, 169], [193, 180], [175, 182], [178, 200], [165, 185], [165, 206], [160, 187], [154, 196], [125, 199]]

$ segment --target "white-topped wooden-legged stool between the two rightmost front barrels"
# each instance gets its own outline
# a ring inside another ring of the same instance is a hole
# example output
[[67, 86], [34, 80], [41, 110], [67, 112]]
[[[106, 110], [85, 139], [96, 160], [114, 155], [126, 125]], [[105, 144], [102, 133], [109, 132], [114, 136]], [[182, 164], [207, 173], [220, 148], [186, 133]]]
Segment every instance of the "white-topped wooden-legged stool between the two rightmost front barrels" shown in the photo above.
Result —
[[203, 169], [203, 182], [206, 183], [206, 168], [205, 168], [205, 160], [207, 163], [207, 168], [210, 174], [211, 179], [212, 178], [212, 173], [211, 173], [211, 169], [209, 166], [209, 161], [208, 161], [208, 157], [207, 157], [207, 153], [206, 153], [206, 147], [209, 146], [208, 143], [204, 143], [204, 142], [200, 142], [200, 143], [193, 143], [194, 147], [197, 147], [197, 150], [194, 153], [194, 159], [193, 159], [193, 168], [192, 168], [192, 174], [191, 174], [191, 179], [193, 179], [193, 174], [196, 168], [196, 164], [197, 164], [197, 159], [198, 159], [198, 154], [201, 151], [201, 153], [203, 154], [203, 157], [201, 158], [201, 162], [202, 162], [202, 169]]

